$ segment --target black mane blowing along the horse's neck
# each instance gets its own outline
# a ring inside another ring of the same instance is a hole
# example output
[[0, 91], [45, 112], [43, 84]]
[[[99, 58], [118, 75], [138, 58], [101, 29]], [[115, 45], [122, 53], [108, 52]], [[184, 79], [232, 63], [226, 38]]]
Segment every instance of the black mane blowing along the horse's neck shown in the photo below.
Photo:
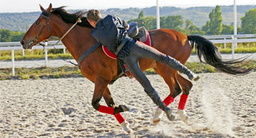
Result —
[[93, 28], [93, 26], [90, 26], [90, 23], [87, 21], [87, 17], [84, 16], [87, 12], [80, 10], [76, 13], [68, 13], [64, 7], [66, 6], [53, 8], [51, 13], [59, 15], [65, 23], [74, 24], [78, 18], [81, 18], [82, 22], [78, 23], [78, 26]]

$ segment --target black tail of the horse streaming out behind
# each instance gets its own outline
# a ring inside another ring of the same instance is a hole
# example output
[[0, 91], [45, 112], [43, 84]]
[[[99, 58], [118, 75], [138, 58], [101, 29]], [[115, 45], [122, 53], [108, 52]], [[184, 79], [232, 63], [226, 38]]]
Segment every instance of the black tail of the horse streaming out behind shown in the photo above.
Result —
[[[200, 62], [203, 62], [203, 55], [205, 61], [203, 63], [212, 65], [219, 71], [233, 75], [245, 75], [253, 70], [253, 68], [242, 68], [242, 65], [235, 65], [237, 63], [243, 63], [248, 56], [245, 58], [223, 61], [218, 48], [211, 41], [199, 35], [189, 35], [187, 36], [187, 39], [190, 40], [192, 48], [195, 46]], [[243, 64], [245, 65], [245, 63]]]

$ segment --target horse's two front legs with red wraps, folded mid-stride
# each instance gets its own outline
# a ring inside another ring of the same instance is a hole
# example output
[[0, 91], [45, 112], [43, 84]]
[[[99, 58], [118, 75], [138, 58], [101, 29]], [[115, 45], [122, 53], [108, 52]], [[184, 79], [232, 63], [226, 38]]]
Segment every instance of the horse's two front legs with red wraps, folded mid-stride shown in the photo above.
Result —
[[[123, 130], [125, 130], [127, 133], [132, 133], [133, 130], [129, 128], [129, 124], [125, 121], [123, 116], [120, 114], [121, 112], [129, 110], [126, 106], [120, 105], [119, 107], [113, 107], [114, 101], [109, 96], [110, 91], [108, 89], [108, 81], [103, 80], [103, 79], [97, 79], [95, 82], [95, 89], [93, 93], [93, 100], [92, 100], [92, 106], [95, 110], [98, 110], [101, 113], [107, 113], [110, 115], [114, 115], [115, 118], [117, 118], [117, 121], [121, 124], [123, 127]], [[105, 99], [107, 101], [113, 101], [113, 103], [108, 103], [108, 107], [105, 107], [103, 105], [99, 104], [99, 101], [101, 100], [103, 94], [105, 95]], [[108, 96], [107, 96], [108, 95]], [[108, 99], [109, 98], [109, 99]], [[112, 106], [111, 106], [112, 105]]]

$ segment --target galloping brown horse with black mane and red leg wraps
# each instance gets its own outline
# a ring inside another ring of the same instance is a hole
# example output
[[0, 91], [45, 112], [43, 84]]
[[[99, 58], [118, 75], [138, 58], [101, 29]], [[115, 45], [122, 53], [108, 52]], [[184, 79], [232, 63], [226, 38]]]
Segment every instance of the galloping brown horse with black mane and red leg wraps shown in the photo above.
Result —
[[[87, 22], [86, 17], [84, 17], [84, 12], [78, 11], [77, 13], [67, 13], [63, 7], [52, 8], [51, 4], [45, 10], [44, 7], [41, 7], [41, 10], [41, 16], [32, 24], [29, 31], [24, 35], [23, 40], [20, 42], [24, 49], [32, 49], [32, 46], [35, 46], [42, 40], [46, 40], [50, 36], [62, 37], [79, 18], [81, 18], [82, 22], [78, 23], [78, 26], [72, 28], [66, 37], [62, 39], [62, 43], [66, 46], [76, 61], [78, 61], [78, 58], [80, 58], [90, 46], [93, 46], [96, 43], [96, 40], [90, 35], [90, 31], [93, 27]], [[200, 61], [202, 62], [201, 57], [203, 55], [204, 61], [207, 64], [214, 66], [219, 71], [223, 71], [227, 74], [243, 75], [248, 74], [252, 70], [252, 68], [245, 69], [233, 65], [242, 62], [244, 59], [226, 62], [222, 61], [217, 47], [203, 37], [197, 35], [187, 36], [172, 29], [157, 29], [149, 31], [149, 33], [154, 48], [172, 56], [182, 64], [187, 62], [191, 49], [195, 47]], [[189, 41], [192, 43], [191, 46]], [[189, 95], [193, 85], [189, 80], [181, 77], [181, 75], [178, 74], [178, 71], [148, 58], [140, 59], [139, 65], [142, 71], [145, 71], [148, 68], [154, 68], [154, 71], [163, 77], [163, 80], [169, 86], [169, 96], [171, 97], [165, 99], [165, 101], [168, 101], [166, 102], [166, 106], [172, 103], [173, 99], [181, 94], [181, 92], [183, 92], [181, 97], [187, 97], [187, 95]], [[111, 92], [108, 89], [108, 84], [111, 80], [114, 80], [115, 77], [117, 77], [117, 61], [108, 58], [101, 48], [97, 48], [83, 59], [80, 64], [80, 69], [84, 77], [87, 77], [88, 80], [95, 84], [92, 100], [93, 108], [99, 110], [99, 101], [103, 96], [108, 105], [108, 109], [115, 109], [114, 111], [117, 111], [114, 113], [114, 116], [122, 125], [123, 129], [127, 132], [131, 132], [126, 121], [120, 115], [121, 112], [128, 109], [125, 106], [116, 107], [113, 98], [111, 97]], [[179, 106], [184, 107], [185, 101], [180, 101], [180, 103], [183, 105]], [[159, 115], [162, 112], [159, 108], [157, 109], [156, 115], [154, 115], [154, 124], [157, 124], [160, 121]], [[100, 112], [108, 113], [107, 111]], [[184, 109], [178, 110], [178, 114], [182, 121], [187, 122], [188, 117], [184, 112]]]

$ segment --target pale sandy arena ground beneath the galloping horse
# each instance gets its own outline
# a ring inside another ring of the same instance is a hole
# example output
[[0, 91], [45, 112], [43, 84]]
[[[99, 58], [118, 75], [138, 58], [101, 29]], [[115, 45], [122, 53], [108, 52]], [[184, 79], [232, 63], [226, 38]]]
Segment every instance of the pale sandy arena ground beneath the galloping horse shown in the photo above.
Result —
[[[113, 115], [91, 106], [94, 85], [86, 78], [0, 81], [0, 137], [256, 137], [256, 72], [244, 77], [200, 74], [188, 97], [187, 126], [177, 114], [179, 96], [154, 126], [156, 106], [136, 80], [121, 78], [109, 86], [133, 134]], [[159, 75], [148, 75], [161, 98], [169, 95]], [[105, 105], [102, 99], [100, 102]]]

